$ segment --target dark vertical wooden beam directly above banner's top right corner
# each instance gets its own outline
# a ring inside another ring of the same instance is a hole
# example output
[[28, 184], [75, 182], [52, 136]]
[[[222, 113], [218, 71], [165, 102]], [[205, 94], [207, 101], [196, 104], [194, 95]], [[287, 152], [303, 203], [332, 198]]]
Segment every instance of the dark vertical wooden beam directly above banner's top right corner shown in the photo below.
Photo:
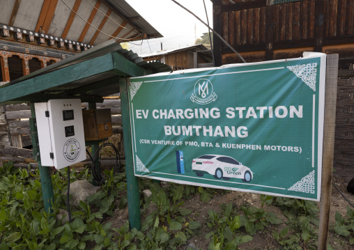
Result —
[[323, 46], [323, 19], [324, 19], [324, 1], [315, 1], [315, 28], [314, 28], [314, 52], [322, 52]]

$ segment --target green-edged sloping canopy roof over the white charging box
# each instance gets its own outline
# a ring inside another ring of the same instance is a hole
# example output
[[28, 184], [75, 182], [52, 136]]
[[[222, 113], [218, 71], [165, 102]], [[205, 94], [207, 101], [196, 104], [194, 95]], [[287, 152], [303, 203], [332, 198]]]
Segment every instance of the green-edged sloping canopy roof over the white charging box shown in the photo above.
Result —
[[109, 40], [0, 86], [0, 104], [61, 98], [102, 102], [102, 97], [119, 92], [118, 84], [124, 77], [168, 71], [171, 71], [168, 65], [158, 61], [148, 63]]

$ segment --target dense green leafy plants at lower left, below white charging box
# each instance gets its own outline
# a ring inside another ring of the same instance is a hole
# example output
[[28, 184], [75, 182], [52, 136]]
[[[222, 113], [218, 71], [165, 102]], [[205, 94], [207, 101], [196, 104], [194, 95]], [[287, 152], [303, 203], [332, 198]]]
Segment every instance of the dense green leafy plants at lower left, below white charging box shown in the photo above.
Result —
[[[87, 170], [70, 173], [70, 181], [82, 177], [89, 177]], [[107, 181], [104, 188], [121, 180], [115, 175], [109, 177], [111, 182]], [[53, 213], [48, 214], [44, 210], [38, 169], [34, 173], [14, 169], [11, 162], [0, 168], [1, 249], [85, 249], [87, 242], [93, 242], [95, 249], [116, 249], [116, 242], [110, 240], [114, 233], [111, 224], [95, 220], [102, 219], [114, 208], [114, 192], [109, 196], [98, 192], [88, 198], [97, 205], [98, 212], [92, 212], [88, 204], [81, 202], [79, 208], [71, 208], [71, 224], [61, 225], [61, 221], [56, 221], [59, 208], [66, 209], [63, 192], [66, 191], [67, 178], [66, 171], [52, 175], [55, 203]]]

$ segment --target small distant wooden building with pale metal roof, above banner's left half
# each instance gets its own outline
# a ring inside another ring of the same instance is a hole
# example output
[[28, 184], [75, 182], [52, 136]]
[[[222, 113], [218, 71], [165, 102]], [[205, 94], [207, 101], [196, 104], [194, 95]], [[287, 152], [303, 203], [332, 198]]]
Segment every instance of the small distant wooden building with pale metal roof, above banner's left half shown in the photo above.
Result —
[[203, 45], [162, 50], [152, 54], [141, 55], [141, 58], [144, 61], [161, 61], [169, 65], [172, 70], [213, 67], [211, 51]]

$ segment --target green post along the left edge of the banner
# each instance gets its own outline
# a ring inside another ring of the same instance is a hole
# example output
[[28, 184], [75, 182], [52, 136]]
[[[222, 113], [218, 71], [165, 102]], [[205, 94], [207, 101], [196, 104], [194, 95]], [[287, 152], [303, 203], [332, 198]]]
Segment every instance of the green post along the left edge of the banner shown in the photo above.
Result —
[[141, 229], [140, 220], [140, 196], [139, 178], [134, 175], [134, 164], [132, 155], [132, 132], [130, 130], [130, 107], [128, 97], [128, 83], [126, 79], [121, 79], [119, 88], [121, 91], [121, 109], [123, 122], [123, 137], [125, 148], [125, 173], [127, 175], [128, 188], [128, 217], [130, 229]]

